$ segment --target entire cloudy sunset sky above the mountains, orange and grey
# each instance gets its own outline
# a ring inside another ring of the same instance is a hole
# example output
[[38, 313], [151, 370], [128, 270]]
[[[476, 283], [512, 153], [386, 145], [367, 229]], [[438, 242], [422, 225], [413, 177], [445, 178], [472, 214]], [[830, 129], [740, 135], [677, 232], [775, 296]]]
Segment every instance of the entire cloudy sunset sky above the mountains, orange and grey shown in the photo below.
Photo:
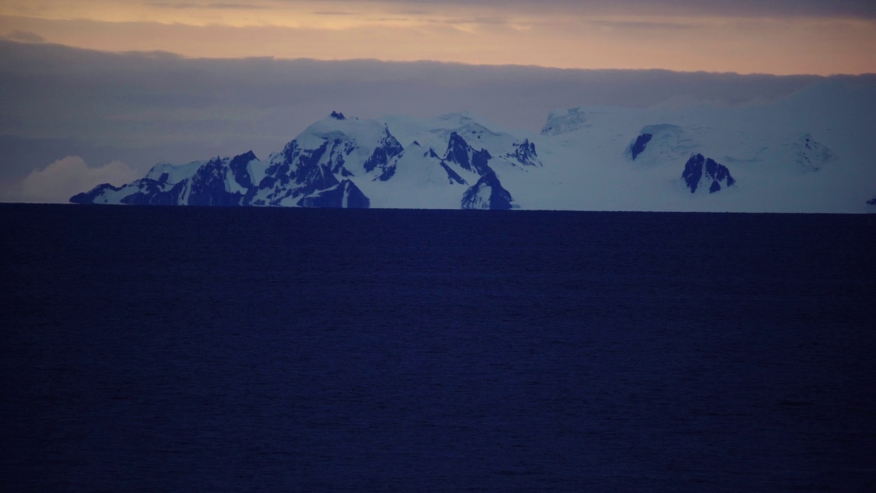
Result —
[[0, 201], [264, 158], [330, 111], [537, 132], [562, 108], [758, 104], [872, 73], [869, 1], [4, 0]]

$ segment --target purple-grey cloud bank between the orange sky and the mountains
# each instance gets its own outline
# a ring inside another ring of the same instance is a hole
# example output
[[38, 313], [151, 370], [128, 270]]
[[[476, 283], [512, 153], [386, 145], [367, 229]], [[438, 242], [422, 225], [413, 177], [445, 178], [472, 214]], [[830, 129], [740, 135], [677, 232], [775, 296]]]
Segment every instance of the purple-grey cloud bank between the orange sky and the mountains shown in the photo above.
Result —
[[67, 155], [145, 169], [253, 149], [260, 157], [330, 111], [362, 118], [471, 111], [537, 131], [549, 111], [673, 99], [774, 100], [823, 77], [563, 70], [438, 62], [186, 59], [0, 41], [0, 179]]

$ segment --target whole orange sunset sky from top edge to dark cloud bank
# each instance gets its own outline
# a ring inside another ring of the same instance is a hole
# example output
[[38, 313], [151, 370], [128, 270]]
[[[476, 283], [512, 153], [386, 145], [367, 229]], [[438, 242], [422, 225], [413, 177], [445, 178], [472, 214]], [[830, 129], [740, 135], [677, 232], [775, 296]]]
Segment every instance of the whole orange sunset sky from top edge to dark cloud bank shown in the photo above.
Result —
[[374, 58], [781, 75], [876, 72], [876, 21], [856, 17], [853, 8], [824, 11], [817, 8], [823, 4], [811, 2], [815, 7], [784, 12], [745, 1], [741, 4], [755, 6], [631, 2], [5, 0], [0, 35], [192, 57]]

